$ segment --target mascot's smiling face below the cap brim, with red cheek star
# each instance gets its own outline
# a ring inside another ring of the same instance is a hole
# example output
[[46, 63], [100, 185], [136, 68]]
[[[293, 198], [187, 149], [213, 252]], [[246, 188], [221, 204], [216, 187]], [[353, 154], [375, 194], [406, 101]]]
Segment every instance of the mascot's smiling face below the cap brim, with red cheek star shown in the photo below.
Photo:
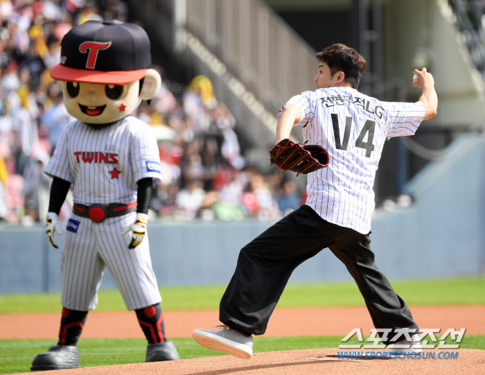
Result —
[[67, 112], [85, 123], [112, 123], [139, 106], [139, 81], [125, 85], [62, 82]]

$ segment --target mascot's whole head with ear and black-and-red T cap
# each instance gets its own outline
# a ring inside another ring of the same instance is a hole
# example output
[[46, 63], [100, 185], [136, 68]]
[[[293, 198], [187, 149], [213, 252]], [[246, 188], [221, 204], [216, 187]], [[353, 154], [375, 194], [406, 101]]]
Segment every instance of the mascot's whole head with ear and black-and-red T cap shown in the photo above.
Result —
[[147, 69], [151, 64], [150, 40], [140, 26], [116, 19], [86, 21], [64, 35], [60, 64], [50, 73], [71, 116], [103, 125], [123, 119], [157, 94], [161, 77]]

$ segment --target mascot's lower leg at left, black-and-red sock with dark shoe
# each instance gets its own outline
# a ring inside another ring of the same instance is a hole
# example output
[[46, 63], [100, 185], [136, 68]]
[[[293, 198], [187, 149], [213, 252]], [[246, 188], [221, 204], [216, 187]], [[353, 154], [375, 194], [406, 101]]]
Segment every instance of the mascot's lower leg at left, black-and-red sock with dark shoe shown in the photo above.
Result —
[[76, 344], [84, 328], [87, 311], [62, 308], [58, 345], [50, 347], [46, 353], [37, 355], [30, 371], [79, 368], [79, 354]]

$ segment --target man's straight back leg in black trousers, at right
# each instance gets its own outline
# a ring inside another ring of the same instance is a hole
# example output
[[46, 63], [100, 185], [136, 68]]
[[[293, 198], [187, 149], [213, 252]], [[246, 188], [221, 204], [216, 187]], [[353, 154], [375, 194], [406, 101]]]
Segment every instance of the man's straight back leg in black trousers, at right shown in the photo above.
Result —
[[[391, 344], [396, 335], [395, 329], [409, 329], [409, 335], [417, 333], [419, 328], [411, 311], [377, 268], [369, 235], [349, 228], [346, 228], [346, 232], [341, 241], [330, 246], [330, 251], [346, 265], [355, 279], [376, 329], [392, 329], [387, 340], [382, 341], [386, 345]], [[403, 340], [403, 337], [397, 340]]]

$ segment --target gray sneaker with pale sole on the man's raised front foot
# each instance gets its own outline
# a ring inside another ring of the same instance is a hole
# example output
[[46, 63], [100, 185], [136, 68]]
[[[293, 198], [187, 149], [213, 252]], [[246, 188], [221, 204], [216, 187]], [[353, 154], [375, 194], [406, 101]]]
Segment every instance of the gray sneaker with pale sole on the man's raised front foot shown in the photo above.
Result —
[[194, 329], [193, 339], [203, 347], [223, 351], [241, 359], [253, 356], [253, 338], [230, 329], [228, 326], [215, 326], [220, 331], [209, 329]]

